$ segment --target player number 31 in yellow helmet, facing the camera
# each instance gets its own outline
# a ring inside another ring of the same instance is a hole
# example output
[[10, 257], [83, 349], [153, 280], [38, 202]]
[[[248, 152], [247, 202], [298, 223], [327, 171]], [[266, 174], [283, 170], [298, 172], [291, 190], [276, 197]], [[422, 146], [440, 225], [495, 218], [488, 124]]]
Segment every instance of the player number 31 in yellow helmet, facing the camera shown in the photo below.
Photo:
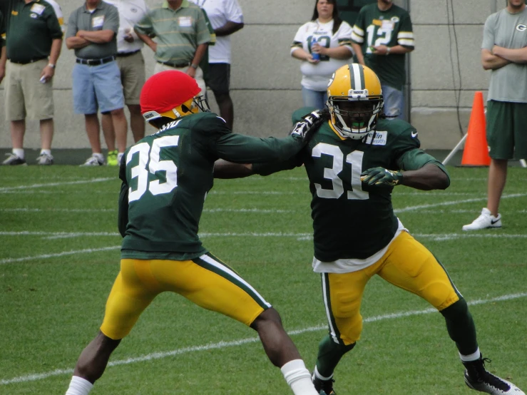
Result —
[[465, 299], [436, 257], [394, 215], [396, 185], [445, 189], [450, 183], [446, 169], [419, 149], [417, 131], [409, 123], [383, 118], [381, 83], [372, 69], [359, 63], [339, 68], [327, 94], [329, 120], [297, 155], [282, 163], [215, 165], [216, 178], [269, 175], [305, 165], [312, 193], [313, 268], [322, 278], [329, 324], [319, 344], [315, 388], [320, 395], [334, 394], [334, 369], [362, 332], [364, 287], [379, 275], [441, 312], [471, 389], [524, 395], [485, 369], [488, 359], [479, 352]]

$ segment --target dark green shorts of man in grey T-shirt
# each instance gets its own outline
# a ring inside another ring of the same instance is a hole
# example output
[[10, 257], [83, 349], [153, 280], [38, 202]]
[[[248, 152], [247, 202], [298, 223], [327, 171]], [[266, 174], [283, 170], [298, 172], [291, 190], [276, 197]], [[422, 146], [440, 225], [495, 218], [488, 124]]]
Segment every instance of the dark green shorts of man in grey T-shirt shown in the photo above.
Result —
[[527, 158], [527, 103], [488, 101], [486, 123], [491, 158]]

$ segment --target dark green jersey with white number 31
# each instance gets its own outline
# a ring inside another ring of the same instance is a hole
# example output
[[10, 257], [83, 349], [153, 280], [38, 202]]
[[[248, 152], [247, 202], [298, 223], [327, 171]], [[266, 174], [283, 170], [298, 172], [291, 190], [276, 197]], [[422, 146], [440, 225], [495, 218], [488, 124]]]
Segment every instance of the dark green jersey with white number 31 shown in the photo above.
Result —
[[364, 140], [343, 139], [327, 122], [295, 158], [255, 168], [267, 175], [303, 163], [312, 193], [315, 260], [366, 260], [387, 247], [400, 222], [392, 208], [393, 187], [369, 186], [360, 175], [379, 166], [416, 170], [426, 163], [444, 170], [419, 145], [417, 131], [403, 120], [379, 119], [375, 135]]

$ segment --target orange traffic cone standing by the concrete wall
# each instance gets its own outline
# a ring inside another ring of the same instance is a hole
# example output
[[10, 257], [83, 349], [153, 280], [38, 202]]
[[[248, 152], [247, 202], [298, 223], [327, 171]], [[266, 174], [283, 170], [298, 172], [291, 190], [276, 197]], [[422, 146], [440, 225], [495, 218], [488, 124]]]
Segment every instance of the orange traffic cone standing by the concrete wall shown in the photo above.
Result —
[[469, 129], [466, 131], [465, 149], [463, 150], [463, 158], [461, 158], [462, 166], [488, 166], [491, 164], [491, 158], [488, 156], [485, 125], [483, 93], [478, 91], [474, 94]]

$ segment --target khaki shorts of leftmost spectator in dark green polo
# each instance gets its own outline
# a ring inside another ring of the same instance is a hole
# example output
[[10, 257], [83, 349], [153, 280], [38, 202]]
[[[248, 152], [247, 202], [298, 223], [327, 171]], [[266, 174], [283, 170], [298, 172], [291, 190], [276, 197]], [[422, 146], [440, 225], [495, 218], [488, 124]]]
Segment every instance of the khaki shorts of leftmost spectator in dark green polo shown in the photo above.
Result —
[[39, 81], [47, 64], [47, 59], [27, 64], [7, 62], [6, 120], [53, 118], [53, 78], [47, 83]]

